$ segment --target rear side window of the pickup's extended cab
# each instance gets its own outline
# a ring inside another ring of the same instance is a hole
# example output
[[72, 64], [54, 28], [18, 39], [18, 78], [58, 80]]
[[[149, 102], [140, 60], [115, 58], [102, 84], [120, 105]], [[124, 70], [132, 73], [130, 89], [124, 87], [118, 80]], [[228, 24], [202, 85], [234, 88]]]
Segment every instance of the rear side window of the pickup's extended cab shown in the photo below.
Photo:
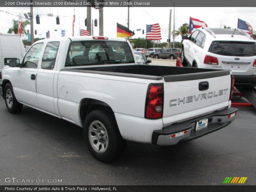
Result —
[[42, 69], [50, 69], [51, 70], [54, 68], [59, 46], [60, 46], [60, 42], [47, 43], [45, 50], [44, 50], [42, 63], [41, 63]]

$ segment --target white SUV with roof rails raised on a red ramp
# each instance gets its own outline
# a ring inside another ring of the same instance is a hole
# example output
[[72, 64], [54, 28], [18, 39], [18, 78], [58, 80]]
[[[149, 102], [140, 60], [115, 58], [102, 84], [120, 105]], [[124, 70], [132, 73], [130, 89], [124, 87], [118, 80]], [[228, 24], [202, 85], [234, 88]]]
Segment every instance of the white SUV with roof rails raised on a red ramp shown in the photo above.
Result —
[[248, 34], [202, 27], [182, 39], [184, 66], [231, 70], [235, 86], [256, 85], [256, 44]]

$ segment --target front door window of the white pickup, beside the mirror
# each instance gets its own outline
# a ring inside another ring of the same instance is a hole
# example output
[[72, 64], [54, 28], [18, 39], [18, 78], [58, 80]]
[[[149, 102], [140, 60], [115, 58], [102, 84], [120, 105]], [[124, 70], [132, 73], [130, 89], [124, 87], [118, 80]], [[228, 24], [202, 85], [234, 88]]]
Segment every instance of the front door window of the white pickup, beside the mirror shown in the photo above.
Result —
[[33, 45], [29, 49], [29, 51], [27, 52], [24, 58], [24, 62], [23, 62], [24, 67], [37, 68], [43, 45], [44, 45], [43, 43], [38, 43]]

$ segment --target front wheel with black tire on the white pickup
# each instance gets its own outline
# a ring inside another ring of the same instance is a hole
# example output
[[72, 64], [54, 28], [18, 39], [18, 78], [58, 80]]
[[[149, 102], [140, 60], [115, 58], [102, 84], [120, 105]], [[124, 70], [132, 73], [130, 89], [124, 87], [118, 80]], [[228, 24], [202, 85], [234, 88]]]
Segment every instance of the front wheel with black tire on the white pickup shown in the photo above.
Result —
[[7, 83], [4, 87], [4, 101], [10, 113], [19, 113], [22, 110], [23, 105], [16, 100], [10, 83]]

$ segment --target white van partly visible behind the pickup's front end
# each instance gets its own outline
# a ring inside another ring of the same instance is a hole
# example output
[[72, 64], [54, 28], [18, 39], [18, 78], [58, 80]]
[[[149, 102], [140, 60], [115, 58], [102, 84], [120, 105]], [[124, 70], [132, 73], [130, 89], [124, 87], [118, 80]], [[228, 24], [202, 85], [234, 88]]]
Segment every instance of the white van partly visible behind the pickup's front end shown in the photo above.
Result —
[[0, 77], [2, 68], [13, 58], [22, 59], [25, 54], [24, 45], [18, 35], [0, 34]]

